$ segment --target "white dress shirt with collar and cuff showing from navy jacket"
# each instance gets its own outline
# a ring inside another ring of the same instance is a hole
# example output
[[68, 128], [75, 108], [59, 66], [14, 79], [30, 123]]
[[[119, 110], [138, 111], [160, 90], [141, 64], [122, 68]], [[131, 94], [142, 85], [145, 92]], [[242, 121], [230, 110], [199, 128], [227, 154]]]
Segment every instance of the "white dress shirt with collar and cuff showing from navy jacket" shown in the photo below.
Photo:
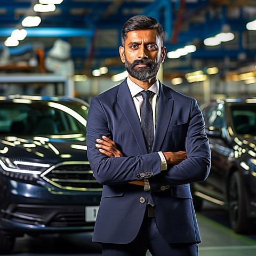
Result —
[[[140, 115], [140, 109], [142, 105], [142, 95], [140, 94], [142, 91], [145, 91], [143, 88], [141, 88], [138, 84], [135, 84], [131, 81], [130, 77], [127, 77], [127, 85], [129, 87], [129, 90], [132, 95], [132, 99], [134, 102], [134, 106], [137, 110], [137, 114], [140, 118], [141, 123], [141, 115]], [[148, 89], [148, 91], [154, 92], [149, 97], [149, 102], [153, 110], [153, 126], [154, 126], [154, 137], [155, 137], [155, 128], [156, 128], [156, 119], [157, 119], [157, 110], [158, 110], [158, 99], [159, 99], [159, 81], [157, 81], [151, 85]], [[141, 127], [142, 129], [142, 127]], [[164, 154], [162, 151], [158, 152], [159, 157], [161, 158], [161, 171], [167, 170], [167, 163], [166, 159], [164, 157]], [[145, 183], [145, 190], [150, 190], [148, 179], [144, 179]]]

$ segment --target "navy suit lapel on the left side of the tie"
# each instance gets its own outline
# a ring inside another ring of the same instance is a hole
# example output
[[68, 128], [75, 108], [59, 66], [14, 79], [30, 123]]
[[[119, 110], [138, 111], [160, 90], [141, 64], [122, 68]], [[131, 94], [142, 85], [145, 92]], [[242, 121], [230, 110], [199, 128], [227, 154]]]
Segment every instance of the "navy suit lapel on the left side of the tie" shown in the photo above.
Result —
[[143, 133], [141, 130], [141, 123], [139, 116], [137, 114], [134, 102], [131, 96], [131, 92], [127, 85], [126, 79], [119, 86], [117, 93], [117, 103], [122, 109], [127, 121], [129, 122], [135, 139], [139, 145], [142, 154], [147, 154], [147, 148], [145, 145], [145, 140], [143, 138]]

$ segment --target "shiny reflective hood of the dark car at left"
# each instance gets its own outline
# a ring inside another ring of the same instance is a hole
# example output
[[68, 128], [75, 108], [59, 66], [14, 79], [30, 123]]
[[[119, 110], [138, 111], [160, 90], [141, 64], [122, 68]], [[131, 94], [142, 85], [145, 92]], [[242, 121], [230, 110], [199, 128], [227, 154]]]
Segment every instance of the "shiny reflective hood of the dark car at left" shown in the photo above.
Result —
[[88, 161], [85, 141], [0, 137], [0, 157], [33, 159], [58, 163], [63, 161]]

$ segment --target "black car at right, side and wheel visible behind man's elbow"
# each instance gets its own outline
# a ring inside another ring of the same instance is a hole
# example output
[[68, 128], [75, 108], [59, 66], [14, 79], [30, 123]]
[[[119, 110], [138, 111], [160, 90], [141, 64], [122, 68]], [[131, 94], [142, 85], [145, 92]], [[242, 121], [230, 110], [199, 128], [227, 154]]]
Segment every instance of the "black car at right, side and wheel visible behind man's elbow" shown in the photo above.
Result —
[[226, 207], [236, 233], [251, 231], [256, 220], [256, 98], [217, 100], [202, 111], [212, 163], [209, 177], [191, 186], [195, 208], [203, 199]]

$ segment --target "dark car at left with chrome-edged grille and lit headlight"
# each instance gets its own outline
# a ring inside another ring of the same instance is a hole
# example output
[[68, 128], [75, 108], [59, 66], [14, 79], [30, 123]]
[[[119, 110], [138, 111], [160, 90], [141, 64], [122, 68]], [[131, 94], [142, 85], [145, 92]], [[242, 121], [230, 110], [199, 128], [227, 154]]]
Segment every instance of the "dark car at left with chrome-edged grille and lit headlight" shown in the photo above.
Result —
[[92, 231], [102, 186], [86, 154], [89, 105], [0, 97], [0, 253], [24, 234]]

